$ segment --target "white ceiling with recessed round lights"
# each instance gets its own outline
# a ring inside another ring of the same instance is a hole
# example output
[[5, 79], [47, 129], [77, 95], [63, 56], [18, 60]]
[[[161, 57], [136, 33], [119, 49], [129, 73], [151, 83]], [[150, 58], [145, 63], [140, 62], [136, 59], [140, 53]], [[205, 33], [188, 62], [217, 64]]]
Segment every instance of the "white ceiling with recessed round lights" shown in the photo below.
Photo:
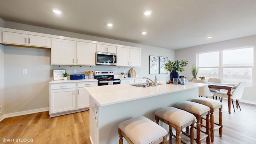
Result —
[[0, 18], [175, 50], [255, 35], [256, 0], [0, 0]]

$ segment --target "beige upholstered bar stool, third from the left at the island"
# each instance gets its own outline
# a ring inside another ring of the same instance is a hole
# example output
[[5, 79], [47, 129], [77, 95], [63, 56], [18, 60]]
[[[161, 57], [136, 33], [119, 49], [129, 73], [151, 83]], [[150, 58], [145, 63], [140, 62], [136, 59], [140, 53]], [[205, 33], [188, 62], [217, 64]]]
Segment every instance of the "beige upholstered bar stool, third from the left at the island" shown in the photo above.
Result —
[[[201, 141], [206, 138], [206, 144], [210, 144], [210, 108], [208, 106], [204, 106], [202, 104], [198, 104], [196, 102], [190, 102], [190, 101], [185, 101], [185, 102], [180, 102], [176, 104], [176, 108], [185, 110], [187, 112], [190, 112], [196, 117], [196, 143], [201, 144]], [[206, 116], [206, 132], [201, 130], [201, 118], [203, 116]], [[200, 132], [204, 133], [205, 135], [200, 136]], [[187, 129], [188, 133], [188, 129]]]

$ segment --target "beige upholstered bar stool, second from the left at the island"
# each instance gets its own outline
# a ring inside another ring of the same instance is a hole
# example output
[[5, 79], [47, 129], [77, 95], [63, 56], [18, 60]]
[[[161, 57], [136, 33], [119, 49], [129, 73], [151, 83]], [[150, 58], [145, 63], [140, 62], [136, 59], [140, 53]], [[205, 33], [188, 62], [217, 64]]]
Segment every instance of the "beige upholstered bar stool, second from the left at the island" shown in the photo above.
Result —
[[[181, 140], [180, 134], [184, 134], [190, 138], [190, 144], [194, 144], [194, 123], [195, 116], [180, 110], [174, 107], [167, 107], [155, 112], [156, 123], [159, 124], [159, 120], [169, 125], [169, 134], [170, 134], [170, 144], [172, 144], [172, 136], [176, 138], [176, 143], [180, 144]], [[183, 132], [182, 129], [191, 126], [190, 135]], [[172, 133], [172, 128], [175, 128], [176, 135]]]

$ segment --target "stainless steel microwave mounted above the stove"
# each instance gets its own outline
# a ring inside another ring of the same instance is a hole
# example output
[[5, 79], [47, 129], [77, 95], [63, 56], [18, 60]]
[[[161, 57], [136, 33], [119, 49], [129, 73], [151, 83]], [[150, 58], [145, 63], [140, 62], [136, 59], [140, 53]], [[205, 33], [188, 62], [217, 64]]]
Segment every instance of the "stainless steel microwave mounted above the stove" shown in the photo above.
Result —
[[116, 54], [110, 52], [96, 52], [97, 65], [116, 65]]

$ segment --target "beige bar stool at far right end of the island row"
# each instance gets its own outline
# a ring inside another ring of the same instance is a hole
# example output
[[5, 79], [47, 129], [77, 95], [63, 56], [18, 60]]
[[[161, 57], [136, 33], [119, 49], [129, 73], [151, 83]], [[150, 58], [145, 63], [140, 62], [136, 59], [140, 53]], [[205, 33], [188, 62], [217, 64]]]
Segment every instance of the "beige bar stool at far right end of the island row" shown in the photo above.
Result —
[[[199, 104], [203, 104], [205, 106], [208, 106], [210, 108], [210, 132], [211, 132], [211, 142], [214, 142], [214, 130], [219, 128], [219, 134], [220, 137], [222, 137], [222, 103], [218, 102], [217, 100], [212, 100], [209, 98], [194, 98], [191, 100], [192, 102], [197, 102]], [[219, 109], [219, 123], [214, 122], [214, 110]], [[203, 119], [203, 118], [202, 118]], [[201, 125], [202, 125], [202, 119], [201, 119]], [[214, 124], [218, 125], [214, 127]], [[204, 126], [205, 127], [205, 126]]]

